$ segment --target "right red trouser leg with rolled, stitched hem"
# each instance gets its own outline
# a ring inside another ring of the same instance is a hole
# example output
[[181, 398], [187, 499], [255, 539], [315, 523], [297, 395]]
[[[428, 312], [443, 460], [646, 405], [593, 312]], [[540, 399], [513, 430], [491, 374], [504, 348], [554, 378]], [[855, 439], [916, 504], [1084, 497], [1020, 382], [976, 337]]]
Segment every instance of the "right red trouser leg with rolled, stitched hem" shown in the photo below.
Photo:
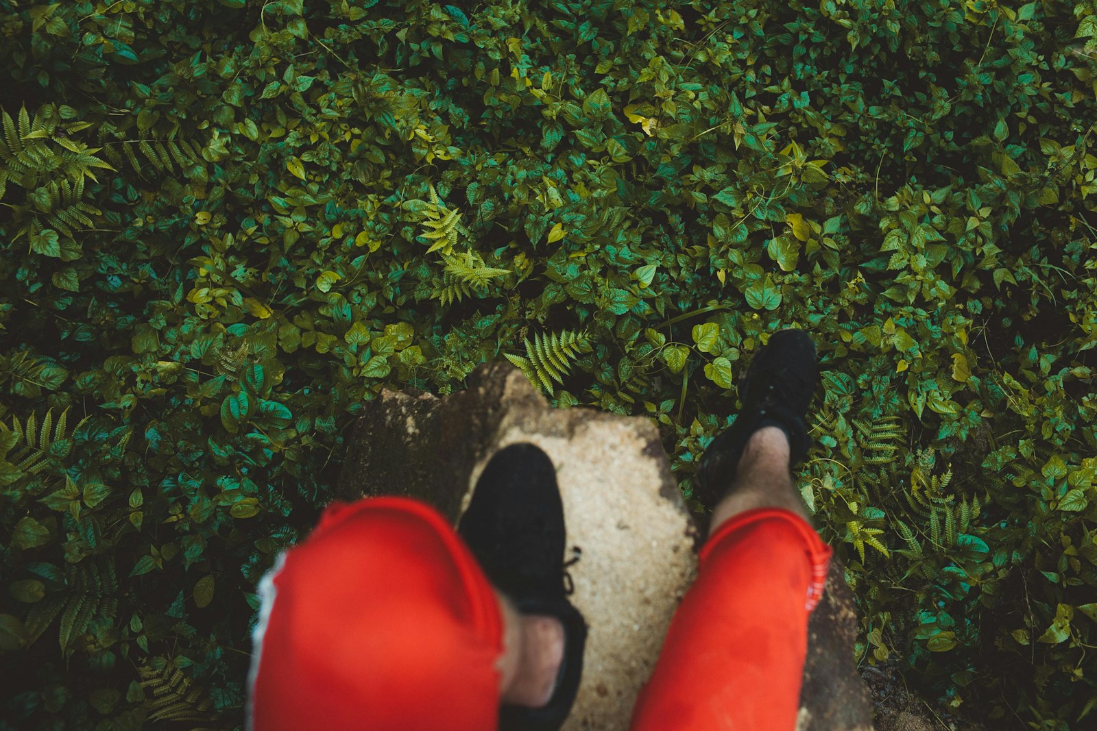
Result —
[[832, 553], [790, 511], [760, 507], [723, 523], [701, 549], [632, 731], [792, 731], [807, 615]]

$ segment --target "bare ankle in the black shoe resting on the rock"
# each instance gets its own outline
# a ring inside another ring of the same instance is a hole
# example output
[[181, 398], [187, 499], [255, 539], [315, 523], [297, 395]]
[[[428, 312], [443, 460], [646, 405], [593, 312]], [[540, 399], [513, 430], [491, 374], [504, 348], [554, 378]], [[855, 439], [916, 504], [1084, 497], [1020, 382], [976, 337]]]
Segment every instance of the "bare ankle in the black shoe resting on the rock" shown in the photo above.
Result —
[[523, 615], [498, 591], [504, 618], [504, 652], [496, 666], [504, 703], [540, 707], [548, 703], [564, 659], [564, 626], [559, 619]]

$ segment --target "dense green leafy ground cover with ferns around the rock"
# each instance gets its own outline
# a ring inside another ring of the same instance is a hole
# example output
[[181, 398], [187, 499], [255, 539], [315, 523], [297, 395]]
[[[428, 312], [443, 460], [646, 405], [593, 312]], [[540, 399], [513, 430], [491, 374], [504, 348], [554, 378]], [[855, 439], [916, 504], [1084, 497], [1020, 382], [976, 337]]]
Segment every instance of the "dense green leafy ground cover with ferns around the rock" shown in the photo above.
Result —
[[1097, 716], [1094, 0], [0, 0], [0, 729], [238, 726], [256, 582], [382, 387], [509, 358], [656, 420], [702, 510], [782, 327], [858, 661]]

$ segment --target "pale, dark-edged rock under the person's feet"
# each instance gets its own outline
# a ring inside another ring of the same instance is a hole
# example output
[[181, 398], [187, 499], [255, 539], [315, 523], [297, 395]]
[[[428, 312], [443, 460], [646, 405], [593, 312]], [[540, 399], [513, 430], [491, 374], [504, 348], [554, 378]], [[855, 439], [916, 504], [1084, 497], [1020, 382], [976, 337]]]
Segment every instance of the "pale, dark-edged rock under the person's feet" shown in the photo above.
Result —
[[[346, 499], [425, 500], [454, 524], [491, 455], [530, 442], [556, 466], [567, 521], [572, 602], [590, 632], [583, 684], [565, 731], [624, 730], [697, 571], [701, 535], [681, 500], [655, 425], [641, 416], [552, 409], [509, 364], [479, 366], [465, 391], [439, 399], [385, 391], [364, 404], [343, 464]], [[800, 731], [871, 729], [852, 662], [856, 613], [832, 567], [808, 625]]]

